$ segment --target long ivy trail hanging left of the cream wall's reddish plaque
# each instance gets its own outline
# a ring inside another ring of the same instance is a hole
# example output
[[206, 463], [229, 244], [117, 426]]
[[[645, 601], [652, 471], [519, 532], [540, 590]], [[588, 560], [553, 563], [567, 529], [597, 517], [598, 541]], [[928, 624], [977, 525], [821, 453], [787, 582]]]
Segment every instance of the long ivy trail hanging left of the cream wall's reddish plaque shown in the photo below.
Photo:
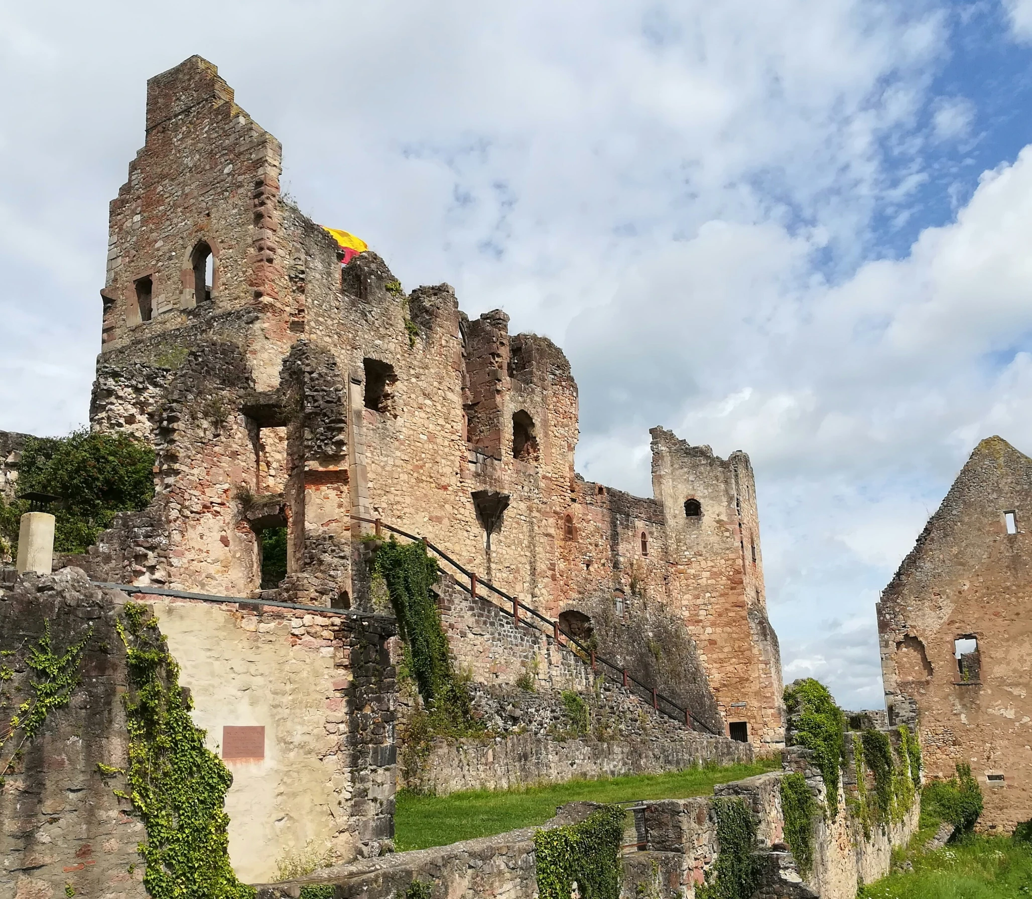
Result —
[[192, 702], [157, 620], [144, 606], [126, 603], [116, 627], [129, 669], [129, 767], [122, 772], [128, 793], [118, 792], [147, 829], [139, 845], [143, 886], [154, 899], [252, 899], [254, 889], [237, 880], [229, 864], [223, 804], [232, 774], [190, 718]]

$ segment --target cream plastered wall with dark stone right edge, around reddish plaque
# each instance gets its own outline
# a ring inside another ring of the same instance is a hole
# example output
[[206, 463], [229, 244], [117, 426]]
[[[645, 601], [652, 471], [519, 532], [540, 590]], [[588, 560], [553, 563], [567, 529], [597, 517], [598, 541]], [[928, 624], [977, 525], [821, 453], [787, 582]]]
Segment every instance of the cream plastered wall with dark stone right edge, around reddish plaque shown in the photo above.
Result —
[[[233, 774], [229, 855], [245, 881], [312, 843], [351, 861], [391, 845], [392, 619], [136, 594], [158, 617], [194, 701], [193, 719]], [[258, 728], [238, 758], [227, 728]]]

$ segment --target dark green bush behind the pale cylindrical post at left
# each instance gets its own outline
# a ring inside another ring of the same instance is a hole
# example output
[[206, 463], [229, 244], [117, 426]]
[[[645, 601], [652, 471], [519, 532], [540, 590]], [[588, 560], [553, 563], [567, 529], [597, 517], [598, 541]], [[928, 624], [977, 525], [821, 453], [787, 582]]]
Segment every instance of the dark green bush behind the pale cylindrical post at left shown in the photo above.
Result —
[[[82, 553], [122, 511], [147, 508], [154, 498], [154, 451], [130, 434], [73, 431], [67, 437], [30, 437], [18, 464], [18, 490], [60, 497], [51, 508], [54, 548]], [[0, 538], [11, 550], [26, 502], [0, 500]]]

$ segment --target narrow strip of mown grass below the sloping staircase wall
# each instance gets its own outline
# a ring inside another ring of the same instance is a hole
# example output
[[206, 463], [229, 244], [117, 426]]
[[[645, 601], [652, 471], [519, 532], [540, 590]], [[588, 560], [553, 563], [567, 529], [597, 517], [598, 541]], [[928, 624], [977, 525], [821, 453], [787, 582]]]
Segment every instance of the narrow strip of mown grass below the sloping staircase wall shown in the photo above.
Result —
[[570, 780], [548, 787], [451, 796], [418, 796], [401, 791], [394, 815], [394, 842], [399, 852], [447, 845], [460, 839], [491, 836], [544, 824], [566, 802], [623, 802], [633, 799], [684, 799], [702, 796], [716, 784], [741, 780], [781, 767], [778, 760], [753, 765], [687, 768], [669, 774], [641, 774], [605, 780]]

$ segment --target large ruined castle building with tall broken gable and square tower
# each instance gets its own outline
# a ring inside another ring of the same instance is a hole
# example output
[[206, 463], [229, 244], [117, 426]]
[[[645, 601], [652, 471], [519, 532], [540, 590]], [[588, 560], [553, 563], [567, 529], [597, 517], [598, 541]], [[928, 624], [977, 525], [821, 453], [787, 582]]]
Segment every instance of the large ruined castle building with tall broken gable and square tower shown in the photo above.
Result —
[[[111, 203], [92, 426], [156, 450], [158, 494], [92, 551], [97, 576], [361, 607], [380, 518], [649, 668], [733, 735], [783, 740], [748, 458], [653, 431], [654, 499], [574, 471], [562, 352], [406, 293], [280, 194], [280, 144], [192, 57], [148, 85], [147, 141]], [[653, 650], [646, 647], [653, 646]], [[461, 643], [453, 645], [461, 662]]]

